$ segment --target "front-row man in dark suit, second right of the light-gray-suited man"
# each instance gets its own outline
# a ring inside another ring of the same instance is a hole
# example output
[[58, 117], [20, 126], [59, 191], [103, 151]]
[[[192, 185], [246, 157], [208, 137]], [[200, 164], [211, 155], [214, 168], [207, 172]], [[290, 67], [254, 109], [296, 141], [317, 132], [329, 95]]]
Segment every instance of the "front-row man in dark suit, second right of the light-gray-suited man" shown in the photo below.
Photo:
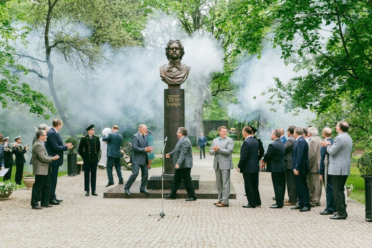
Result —
[[275, 129], [271, 132], [271, 140], [263, 161], [267, 162], [266, 171], [271, 172], [276, 203], [270, 208], [282, 208], [285, 193], [285, 164], [284, 164], [284, 144], [280, 140], [280, 131]]

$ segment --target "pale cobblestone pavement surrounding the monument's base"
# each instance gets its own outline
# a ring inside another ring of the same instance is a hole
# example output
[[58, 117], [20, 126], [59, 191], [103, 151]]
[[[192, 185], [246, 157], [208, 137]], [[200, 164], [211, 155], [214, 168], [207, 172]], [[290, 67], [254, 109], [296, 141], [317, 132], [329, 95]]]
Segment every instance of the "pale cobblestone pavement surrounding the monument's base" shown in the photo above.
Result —
[[[215, 180], [212, 161], [212, 156], [199, 160], [194, 155], [192, 174]], [[125, 180], [131, 174], [122, 173]], [[160, 173], [161, 168], [149, 171], [150, 176]], [[323, 189], [321, 206], [310, 212], [270, 209], [270, 173], [260, 173], [262, 207], [244, 209], [243, 177], [236, 170], [231, 183], [237, 199], [230, 207], [215, 207], [211, 199], [164, 200], [166, 216], [157, 221], [161, 199], [103, 199], [106, 170], [97, 171], [97, 197], [84, 196], [83, 173], [66, 175], [58, 178], [57, 197], [64, 199], [58, 206], [31, 209], [26, 189], [0, 201], [0, 247], [372, 247], [372, 223], [365, 221], [362, 204], [349, 200], [349, 217], [331, 220], [319, 215], [325, 207]]]

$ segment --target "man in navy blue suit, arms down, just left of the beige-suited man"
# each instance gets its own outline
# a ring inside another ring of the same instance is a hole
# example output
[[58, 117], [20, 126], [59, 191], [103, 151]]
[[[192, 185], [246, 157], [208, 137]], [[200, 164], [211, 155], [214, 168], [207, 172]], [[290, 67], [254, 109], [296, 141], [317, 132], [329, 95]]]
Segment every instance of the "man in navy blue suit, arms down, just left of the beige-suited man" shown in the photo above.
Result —
[[291, 209], [300, 212], [311, 210], [309, 188], [307, 187], [306, 174], [309, 171], [309, 146], [302, 136], [304, 129], [297, 127], [294, 131], [296, 139], [292, 154], [292, 169], [296, 178], [296, 192], [298, 204]]

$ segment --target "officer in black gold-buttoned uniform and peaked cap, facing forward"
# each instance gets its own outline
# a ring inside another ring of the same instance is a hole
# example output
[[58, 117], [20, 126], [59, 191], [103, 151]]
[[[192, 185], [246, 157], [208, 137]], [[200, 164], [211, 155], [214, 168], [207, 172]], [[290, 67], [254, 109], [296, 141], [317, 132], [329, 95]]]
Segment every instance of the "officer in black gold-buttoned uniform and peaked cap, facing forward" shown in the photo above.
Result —
[[78, 153], [80, 157], [83, 158], [84, 162], [84, 190], [86, 191], [85, 195], [89, 196], [90, 174], [90, 188], [92, 189], [92, 196], [97, 196], [96, 177], [101, 144], [98, 136], [94, 135], [94, 125], [90, 125], [85, 130], [88, 132], [88, 134], [81, 138], [78, 148]]

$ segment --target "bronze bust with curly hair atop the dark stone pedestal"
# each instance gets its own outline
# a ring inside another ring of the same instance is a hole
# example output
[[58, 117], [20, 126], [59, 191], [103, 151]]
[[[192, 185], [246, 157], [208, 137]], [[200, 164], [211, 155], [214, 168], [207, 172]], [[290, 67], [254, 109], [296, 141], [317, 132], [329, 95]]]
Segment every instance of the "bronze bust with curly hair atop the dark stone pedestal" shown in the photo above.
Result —
[[181, 59], [185, 54], [183, 45], [179, 40], [170, 40], [165, 51], [169, 63], [160, 67], [161, 81], [168, 84], [168, 88], [180, 88], [190, 72], [189, 66], [181, 64]]

